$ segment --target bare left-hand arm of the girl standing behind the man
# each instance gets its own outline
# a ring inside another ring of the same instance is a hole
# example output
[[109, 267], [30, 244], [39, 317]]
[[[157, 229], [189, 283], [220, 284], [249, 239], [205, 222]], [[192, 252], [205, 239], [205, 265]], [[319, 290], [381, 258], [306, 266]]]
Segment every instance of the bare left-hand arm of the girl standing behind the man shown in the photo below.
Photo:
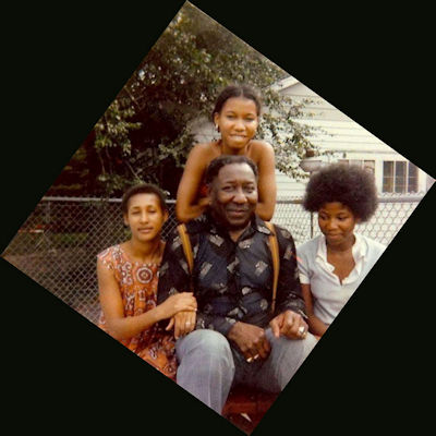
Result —
[[187, 156], [175, 201], [175, 215], [181, 222], [199, 217], [209, 204], [207, 197], [197, 202], [203, 174], [210, 161], [208, 148], [209, 144], [198, 144]]

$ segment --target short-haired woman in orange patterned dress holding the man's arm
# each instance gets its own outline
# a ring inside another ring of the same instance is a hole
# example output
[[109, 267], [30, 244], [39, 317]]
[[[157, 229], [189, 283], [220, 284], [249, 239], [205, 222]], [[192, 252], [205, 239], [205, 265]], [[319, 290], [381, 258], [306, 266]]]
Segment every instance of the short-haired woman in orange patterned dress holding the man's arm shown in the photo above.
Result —
[[[168, 331], [181, 311], [196, 311], [191, 292], [156, 304], [164, 253], [161, 228], [168, 210], [161, 191], [152, 184], [131, 187], [123, 196], [124, 223], [132, 237], [97, 256], [101, 304], [99, 326], [168, 377], [175, 378], [174, 339]], [[158, 322], [171, 318], [166, 330]]]

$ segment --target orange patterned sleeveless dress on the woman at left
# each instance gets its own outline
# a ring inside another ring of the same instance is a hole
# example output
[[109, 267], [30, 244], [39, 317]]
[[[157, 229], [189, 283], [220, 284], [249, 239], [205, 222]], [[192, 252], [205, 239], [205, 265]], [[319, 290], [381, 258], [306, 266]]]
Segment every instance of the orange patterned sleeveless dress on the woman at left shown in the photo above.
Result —
[[[120, 245], [104, 250], [97, 257], [113, 272], [120, 287], [124, 316], [141, 315], [156, 307], [158, 264], [132, 262]], [[102, 312], [98, 325], [110, 335]], [[171, 334], [159, 329], [157, 324], [120, 342], [167, 377], [175, 379], [174, 339]]]

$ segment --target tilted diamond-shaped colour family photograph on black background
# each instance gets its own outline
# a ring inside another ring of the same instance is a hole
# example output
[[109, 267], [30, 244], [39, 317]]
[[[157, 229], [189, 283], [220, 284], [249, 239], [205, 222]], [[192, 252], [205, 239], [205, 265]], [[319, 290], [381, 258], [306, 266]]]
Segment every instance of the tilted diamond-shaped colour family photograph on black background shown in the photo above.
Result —
[[250, 434], [434, 179], [190, 2], [144, 56], [2, 257]]

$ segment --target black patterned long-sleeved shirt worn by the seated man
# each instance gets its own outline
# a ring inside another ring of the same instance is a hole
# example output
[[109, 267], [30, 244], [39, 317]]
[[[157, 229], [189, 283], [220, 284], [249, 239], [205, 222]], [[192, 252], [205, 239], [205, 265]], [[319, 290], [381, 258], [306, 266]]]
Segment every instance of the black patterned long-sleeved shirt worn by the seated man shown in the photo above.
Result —
[[[227, 336], [243, 322], [266, 327], [277, 314], [291, 310], [305, 316], [295, 245], [291, 233], [276, 226], [280, 254], [276, 313], [270, 313], [272, 259], [269, 229], [255, 216], [237, 242], [229, 231], [203, 215], [186, 223], [194, 256], [192, 286], [197, 299], [196, 328]], [[190, 274], [177, 230], [169, 238], [159, 275], [158, 304], [169, 295], [190, 290]]]

